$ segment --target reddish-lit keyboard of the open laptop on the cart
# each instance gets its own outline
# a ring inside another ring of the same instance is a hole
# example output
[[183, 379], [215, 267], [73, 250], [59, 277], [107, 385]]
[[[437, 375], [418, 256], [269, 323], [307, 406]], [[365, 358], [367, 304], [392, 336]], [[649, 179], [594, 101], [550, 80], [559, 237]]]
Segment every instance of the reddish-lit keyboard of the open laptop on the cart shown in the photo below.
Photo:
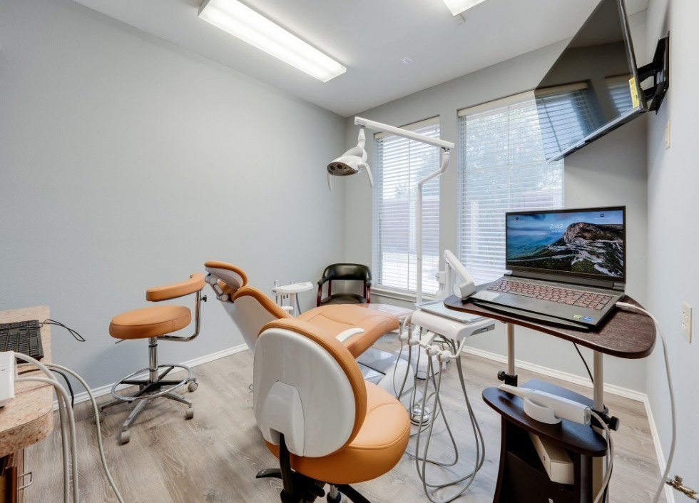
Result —
[[501, 278], [488, 288], [492, 292], [511, 293], [541, 300], [549, 300], [558, 304], [575, 305], [578, 308], [587, 308], [601, 311], [614, 298], [613, 295], [603, 293], [575, 290], [573, 288], [561, 288], [551, 285], [539, 285], [537, 283], [525, 283]]

